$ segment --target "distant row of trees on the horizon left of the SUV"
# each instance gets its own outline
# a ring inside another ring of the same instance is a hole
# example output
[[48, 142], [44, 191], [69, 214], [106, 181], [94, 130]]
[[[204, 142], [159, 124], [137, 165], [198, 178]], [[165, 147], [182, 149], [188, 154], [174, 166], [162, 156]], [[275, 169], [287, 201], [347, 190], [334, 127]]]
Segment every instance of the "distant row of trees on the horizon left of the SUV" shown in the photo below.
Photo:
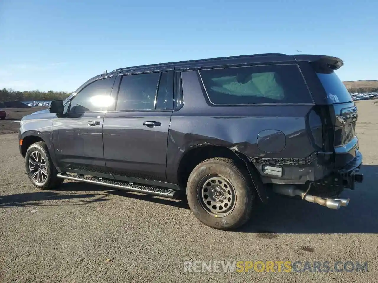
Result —
[[71, 92], [64, 91], [15, 91], [13, 89], [0, 89], [0, 101], [38, 101], [38, 100], [55, 100], [65, 99]]

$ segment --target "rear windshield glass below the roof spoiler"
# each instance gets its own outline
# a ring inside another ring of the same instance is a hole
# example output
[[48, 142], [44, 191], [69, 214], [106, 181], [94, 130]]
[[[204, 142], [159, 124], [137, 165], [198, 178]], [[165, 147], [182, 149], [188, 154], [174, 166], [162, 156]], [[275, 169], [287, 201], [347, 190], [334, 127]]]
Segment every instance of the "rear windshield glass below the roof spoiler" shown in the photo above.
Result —
[[341, 82], [335, 72], [330, 74], [316, 73], [327, 92], [328, 103], [343, 103], [352, 101], [347, 88]]

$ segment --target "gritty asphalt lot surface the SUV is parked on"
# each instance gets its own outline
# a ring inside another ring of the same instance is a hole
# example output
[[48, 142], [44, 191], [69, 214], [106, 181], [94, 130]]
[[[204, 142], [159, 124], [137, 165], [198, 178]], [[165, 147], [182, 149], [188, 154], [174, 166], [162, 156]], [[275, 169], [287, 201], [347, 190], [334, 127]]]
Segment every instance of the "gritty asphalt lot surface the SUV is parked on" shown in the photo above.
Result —
[[[0, 282], [377, 282], [378, 105], [357, 105], [365, 180], [343, 192], [349, 206], [277, 196], [234, 232], [201, 225], [184, 200], [67, 181], [37, 190], [17, 135], [2, 135]], [[368, 272], [183, 271], [197, 260], [367, 261]]]

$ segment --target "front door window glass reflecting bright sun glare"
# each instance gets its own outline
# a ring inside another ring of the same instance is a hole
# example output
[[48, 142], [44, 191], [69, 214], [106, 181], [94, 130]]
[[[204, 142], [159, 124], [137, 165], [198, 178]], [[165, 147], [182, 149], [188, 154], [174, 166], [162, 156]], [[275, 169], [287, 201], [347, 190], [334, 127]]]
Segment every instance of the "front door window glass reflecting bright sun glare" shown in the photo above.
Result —
[[82, 113], [107, 110], [108, 106], [113, 103], [110, 94], [114, 79], [115, 77], [102, 78], [85, 86], [71, 99], [68, 111]]

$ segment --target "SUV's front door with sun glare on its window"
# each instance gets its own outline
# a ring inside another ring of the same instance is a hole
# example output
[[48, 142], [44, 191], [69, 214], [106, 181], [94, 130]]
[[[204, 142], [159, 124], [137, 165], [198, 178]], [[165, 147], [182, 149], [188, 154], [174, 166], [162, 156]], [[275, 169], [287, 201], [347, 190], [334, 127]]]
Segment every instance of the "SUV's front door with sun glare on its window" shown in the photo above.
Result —
[[[115, 77], [84, 86], [53, 121], [53, 140], [59, 168], [104, 172], [102, 126]], [[70, 172], [70, 170], [66, 170]]]

